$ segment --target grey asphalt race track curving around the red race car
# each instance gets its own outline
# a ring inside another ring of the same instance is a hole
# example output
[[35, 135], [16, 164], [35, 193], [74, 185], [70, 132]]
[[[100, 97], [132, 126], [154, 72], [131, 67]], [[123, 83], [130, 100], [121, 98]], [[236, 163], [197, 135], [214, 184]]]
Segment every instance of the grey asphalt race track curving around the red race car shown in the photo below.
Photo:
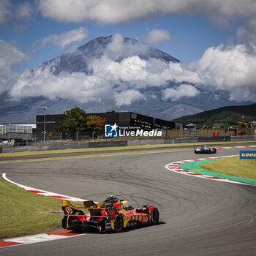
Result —
[[[240, 150], [219, 149], [216, 156]], [[153, 154], [1, 163], [0, 173], [29, 187], [95, 201], [116, 195], [135, 207], [157, 206], [165, 224], [1, 248], [0, 255], [256, 255], [256, 187], [165, 169], [170, 162], [200, 156], [206, 157], [177, 148]]]

